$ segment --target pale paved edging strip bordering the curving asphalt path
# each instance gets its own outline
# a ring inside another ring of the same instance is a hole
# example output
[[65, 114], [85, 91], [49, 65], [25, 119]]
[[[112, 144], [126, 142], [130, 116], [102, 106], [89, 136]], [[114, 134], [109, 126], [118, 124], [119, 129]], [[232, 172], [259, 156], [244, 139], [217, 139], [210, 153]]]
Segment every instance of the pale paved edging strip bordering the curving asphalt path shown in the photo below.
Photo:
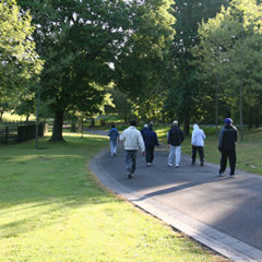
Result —
[[[120, 194], [135, 206], [142, 209], [146, 213], [164, 221], [169, 226], [190, 236], [198, 242], [211, 248], [217, 253], [230, 259], [235, 262], [262, 262], [262, 251], [247, 245], [234, 237], [230, 237], [213, 227], [210, 227], [196, 219], [193, 219], [176, 210], [163, 205], [154, 199], [143, 199], [143, 195], [136, 193], [123, 186], [99, 164], [99, 159], [108, 154], [107, 150], [103, 150], [90, 162], [92, 172], [97, 177], [98, 181], [116, 194]], [[207, 163], [206, 163], [207, 164]], [[216, 166], [215, 164], [207, 164]], [[243, 174], [243, 171], [242, 171]], [[245, 172], [247, 174], [247, 172]]]

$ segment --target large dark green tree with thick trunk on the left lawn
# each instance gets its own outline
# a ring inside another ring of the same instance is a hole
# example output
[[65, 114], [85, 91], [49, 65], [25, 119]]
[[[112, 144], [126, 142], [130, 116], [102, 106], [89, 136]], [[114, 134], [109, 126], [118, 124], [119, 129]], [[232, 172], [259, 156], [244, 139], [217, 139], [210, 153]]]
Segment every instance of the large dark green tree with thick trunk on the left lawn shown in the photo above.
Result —
[[103, 91], [112, 79], [110, 64], [130, 29], [130, 3], [127, 1], [27, 1], [37, 26], [36, 41], [45, 59], [41, 98], [55, 114], [52, 141], [63, 141], [66, 111], [88, 111], [99, 107]]

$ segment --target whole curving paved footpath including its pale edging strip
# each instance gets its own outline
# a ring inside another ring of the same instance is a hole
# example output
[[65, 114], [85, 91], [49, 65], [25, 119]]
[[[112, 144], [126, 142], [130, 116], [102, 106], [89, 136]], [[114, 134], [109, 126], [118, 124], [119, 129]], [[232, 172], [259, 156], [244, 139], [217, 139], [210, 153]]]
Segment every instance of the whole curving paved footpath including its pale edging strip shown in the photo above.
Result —
[[165, 221], [218, 253], [237, 262], [262, 262], [262, 176], [237, 171], [217, 177], [218, 166], [182, 156], [179, 168], [167, 166], [167, 148], [156, 148], [146, 167], [138, 155], [135, 177], [128, 179], [124, 151], [109, 150], [91, 162], [102, 183], [134, 205]]

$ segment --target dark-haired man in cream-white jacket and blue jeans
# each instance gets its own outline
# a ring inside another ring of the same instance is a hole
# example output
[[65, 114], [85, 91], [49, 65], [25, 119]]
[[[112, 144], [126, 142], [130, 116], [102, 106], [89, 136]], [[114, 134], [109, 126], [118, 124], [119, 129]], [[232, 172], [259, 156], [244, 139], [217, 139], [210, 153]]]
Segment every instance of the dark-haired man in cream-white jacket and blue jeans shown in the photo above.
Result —
[[135, 128], [136, 122], [132, 120], [130, 127], [124, 129], [120, 134], [119, 140], [123, 141], [126, 151], [124, 166], [128, 171], [128, 178], [131, 179], [136, 168], [136, 152], [139, 147], [142, 154], [145, 154], [145, 145], [141, 132]]

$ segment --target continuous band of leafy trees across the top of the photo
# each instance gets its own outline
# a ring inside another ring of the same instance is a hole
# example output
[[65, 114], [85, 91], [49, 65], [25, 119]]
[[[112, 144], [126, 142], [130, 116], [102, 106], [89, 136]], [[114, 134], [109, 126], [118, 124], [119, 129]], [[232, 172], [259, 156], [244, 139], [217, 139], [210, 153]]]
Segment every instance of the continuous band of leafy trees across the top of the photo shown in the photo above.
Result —
[[186, 133], [193, 121], [262, 120], [261, 1], [17, 3], [0, 1], [0, 114], [28, 115], [39, 91], [51, 140], [63, 140], [64, 116], [105, 109], [124, 121], [176, 118]]

